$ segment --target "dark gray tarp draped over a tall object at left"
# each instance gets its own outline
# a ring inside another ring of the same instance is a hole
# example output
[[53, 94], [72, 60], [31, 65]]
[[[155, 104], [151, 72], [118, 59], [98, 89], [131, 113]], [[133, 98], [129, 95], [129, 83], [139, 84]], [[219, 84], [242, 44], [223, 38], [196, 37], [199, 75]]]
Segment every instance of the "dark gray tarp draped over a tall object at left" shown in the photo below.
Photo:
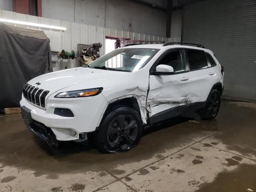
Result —
[[48, 72], [51, 50], [44, 32], [0, 23], [0, 112], [18, 107], [23, 85]]

